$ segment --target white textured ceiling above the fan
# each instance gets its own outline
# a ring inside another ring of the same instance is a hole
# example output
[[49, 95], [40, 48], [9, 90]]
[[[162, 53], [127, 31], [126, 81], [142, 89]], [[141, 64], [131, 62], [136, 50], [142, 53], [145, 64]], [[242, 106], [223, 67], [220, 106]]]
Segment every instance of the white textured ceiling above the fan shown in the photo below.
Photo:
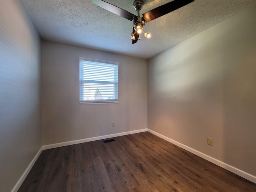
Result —
[[[91, 0], [20, 1], [43, 39], [139, 58], [150, 58], [256, 4], [256, 0], [195, 0], [146, 23], [144, 31], [152, 37], [141, 36], [132, 44], [132, 22]], [[136, 15], [133, 0], [105, 1]], [[167, 2], [170, 0], [146, 0], [140, 13]]]

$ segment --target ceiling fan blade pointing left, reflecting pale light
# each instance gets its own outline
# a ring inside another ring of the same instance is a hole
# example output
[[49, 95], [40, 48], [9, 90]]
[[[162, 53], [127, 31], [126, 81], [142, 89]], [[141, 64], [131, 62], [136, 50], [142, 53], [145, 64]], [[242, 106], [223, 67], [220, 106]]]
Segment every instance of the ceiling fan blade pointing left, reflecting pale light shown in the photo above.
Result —
[[126, 10], [123, 10], [123, 9], [117, 7], [117, 6], [114, 6], [114, 5], [112, 5], [112, 4], [110, 4], [106, 1], [92, 0], [92, 2], [96, 5], [98, 5], [98, 6], [104, 8], [104, 9], [106, 9], [106, 10], [108, 10], [108, 11], [114, 13], [114, 14], [117, 14], [117, 15], [123, 17], [123, 18], [126, 18], [130, 21], [132, 21], [136, 17], [136, 15], [134, 15], [134, 14], [132, 14], [132, 13], [126, 11]]

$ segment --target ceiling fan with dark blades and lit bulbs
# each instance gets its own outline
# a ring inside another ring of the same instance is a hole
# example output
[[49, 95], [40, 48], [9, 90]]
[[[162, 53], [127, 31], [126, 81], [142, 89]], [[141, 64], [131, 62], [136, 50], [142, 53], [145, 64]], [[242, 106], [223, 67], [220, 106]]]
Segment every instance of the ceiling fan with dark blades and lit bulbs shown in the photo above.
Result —
[[134, 15], [126, 10], [123, 10], [117, 6], [114, 6], [106, 1], [103, 0], [92, 0], [92, 2], [114, 14], [117, 14], [123, 18], [133, 21], [133, 29], [132, 29], [132, 44], [136, 43], [140, 40], [141, 32], [144, 34], [145, 37], [150, 38], [150, 33], [144, 32], [143, 28], [146, 22], [150, 22], [158, 17], [161, 17], [165, 14], [168, 14], [178, 8], [181, 8], [187, 4], [190, 4], [194, 0], [173, 0], [168, 2], [162, 6], [154, 8], [140, 17], [140, 10], [142, 10], [145, 0], [134, 0], [133, 6], [134, 9], [137, 11], [138, 15]]

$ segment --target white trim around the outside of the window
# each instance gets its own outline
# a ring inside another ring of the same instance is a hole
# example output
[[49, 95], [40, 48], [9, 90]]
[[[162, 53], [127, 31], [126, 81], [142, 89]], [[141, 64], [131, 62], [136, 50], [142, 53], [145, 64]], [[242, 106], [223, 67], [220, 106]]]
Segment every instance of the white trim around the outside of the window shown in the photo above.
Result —
[[[105, 61], [105, 60], [99, 60], [99, 59], [92, 59], [92, 58], [85, 58], [85, 57], [78, 57], [79, 60], [79, 104], [113, 104], [113, 103], [118, 103], [119, 101], [119, 91], [117, 93], [117, 100], [92, 100], [92, 101], [81, 101], [80, 98], [81, 92], [80, 92], [80, 79], [81, 79], [81, 73], [80, 73], [80, 62], [81, 61], [88, 61], [88, 62], [98, 62], [102, 64], [112, 64], [112, 65], [117, 65], [118, 66], [118, 88], [119, 90], [119, 62], [112, 62], [112, 61]], [[114, 76], [115, 77], [115, 76]]]

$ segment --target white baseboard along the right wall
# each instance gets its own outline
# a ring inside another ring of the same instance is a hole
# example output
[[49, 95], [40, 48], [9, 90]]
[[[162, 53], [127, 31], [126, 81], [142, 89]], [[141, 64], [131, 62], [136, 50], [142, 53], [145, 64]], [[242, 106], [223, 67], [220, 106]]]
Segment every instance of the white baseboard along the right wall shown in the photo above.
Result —
[[214, 163], [214, 164], [216, 164], [216, 165], [218, 165], [218, 166], [220, 166], [220, 167], [222, 167], [222, 168], [224, 168], [224, 169], [226, 169], [226, 170], [228, 170], [228, 171], [230, 171], [230, 172], [232, 172], [234, 174], [237, 174], [237, 175], [239, 175], [239, 176], [241, 176], [241, 177], [243, 177], [243, 178], [245, 178], [245, 179], [247, 179], [247, 180], [249, 180], [251, 182], [256, 183], [256, 176], [254, 176], [252, 174], [244, 172], [244, 171], [242, 171], [242, 170], [240, 170], [238, 168], [235, 168], [235, 167], [233, 167], [233, 166], [231, 166], [229, 164], [226, 164], [226, 163], [224, 163], [224, 162], [222, 162], [222, 161], [220, 161], [218, 159], [215, 159], [215, 158], [213, 158], [211, 156], [208, 156], [208, 155], [206, 155], [206, 154], [204, 154], [204, 153], [202, 153], [202, 152], [200, 152], [198, 150], [190, 148], [190, 147], [188, 147], [188, 146], [186, 146], [186, 145], [184, 145], [184, 144], [182, 144], [180, 142], [172, 140], [172, 139], [170, 139], [170, 138], [168, 138], [168, 137], [166, 137], [166, 136], [164, 136], [162, 134], [159, 134], [159, 133], [157, 133], [155, 131], [152, 131], [152, 130], [148, 129], [148, 132], [150, 132], [150, 133], [152, 133], [152, 134], [154, 134], [154, 135], [156, 135], [156, 136], [158, 136], [158, 137], [160, 137], [160, 138], [162, 138], [162, 139], [164, 139], [164, 140], [166, 140], [168, 142], [171, 142], [172, 144], [175, 144], [175, 145], [177, 145], [177, 146], [179, 146], [179, 147], [181, 147], [181, 148], [183, 148], [183, 149], [185, 149], [185, 150], [187, 150], [187, 151], [189, 151], [189, 152], [191, 152], [191, 153], [193, 153], [193, 154], [195, 154], [195, 155], [197, 155], [199, 157], [202, 157], [203, 159], [208, 160], [208, 161], [210, 161], [210, 162], [212, 162], [212, 163]]

